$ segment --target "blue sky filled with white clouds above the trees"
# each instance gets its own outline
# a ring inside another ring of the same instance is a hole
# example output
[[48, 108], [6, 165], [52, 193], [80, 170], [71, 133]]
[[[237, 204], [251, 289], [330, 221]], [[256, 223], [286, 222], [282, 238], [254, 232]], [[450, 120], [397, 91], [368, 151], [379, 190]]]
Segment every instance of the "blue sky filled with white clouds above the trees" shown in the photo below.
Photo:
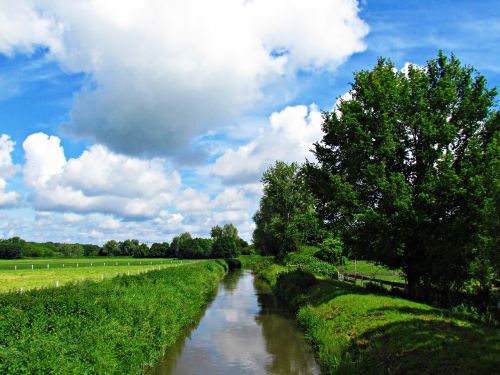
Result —
[[498, 86], [498, 2], [0, 0], [0, 238], [250, 240], [353, 72], [440, 49]]

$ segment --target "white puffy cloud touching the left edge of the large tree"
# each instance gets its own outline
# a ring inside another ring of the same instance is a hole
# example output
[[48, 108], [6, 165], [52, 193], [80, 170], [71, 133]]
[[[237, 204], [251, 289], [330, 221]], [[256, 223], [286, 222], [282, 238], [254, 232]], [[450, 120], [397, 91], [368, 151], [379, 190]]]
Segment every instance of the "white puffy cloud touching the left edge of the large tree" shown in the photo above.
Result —
[[286, 107], [269, 118], [251, 142], [228, 149], [215, 162], [212, 173], [228, 183], [258, 181], [276, 160], [304, 161], [312, 158], [312, 144], [322, 137], [321, 112], [313, 104]]

